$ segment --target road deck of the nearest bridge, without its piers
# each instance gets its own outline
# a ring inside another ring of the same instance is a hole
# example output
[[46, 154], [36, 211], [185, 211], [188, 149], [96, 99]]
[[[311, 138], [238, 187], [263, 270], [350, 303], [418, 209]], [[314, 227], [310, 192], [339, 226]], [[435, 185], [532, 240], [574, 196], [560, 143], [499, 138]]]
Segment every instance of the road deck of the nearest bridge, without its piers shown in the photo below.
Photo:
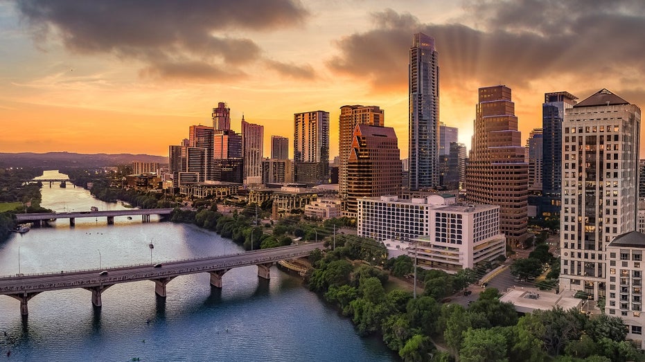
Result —
[[[322, 247], [322, 243], [282, 246], [234, 255], [163, 262], [157, 268], [151, 264], [143, 264], [86, 271], [63, 271], [61, 273], [2, 277], [0, 278], [0, 295], [109, 286], [139, 280], [175, 278], [179, 275], [193, 273], [227, 271], [240, 266], [266, 264], [294, 257], [303, 257], [308, 255], [310, 251]], [[107, 275], [100, 275], [102, 271], [107, 271]]]

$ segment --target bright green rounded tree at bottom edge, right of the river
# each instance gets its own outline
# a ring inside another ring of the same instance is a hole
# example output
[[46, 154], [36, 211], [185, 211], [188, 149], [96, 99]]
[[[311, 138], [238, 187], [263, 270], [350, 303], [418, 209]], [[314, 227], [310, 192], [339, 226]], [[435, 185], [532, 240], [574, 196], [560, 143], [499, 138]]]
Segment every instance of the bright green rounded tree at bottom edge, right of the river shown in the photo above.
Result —
[[504, 362], [506, 340], [496, 329], [468, 329], [463, 334], [459, 361]]

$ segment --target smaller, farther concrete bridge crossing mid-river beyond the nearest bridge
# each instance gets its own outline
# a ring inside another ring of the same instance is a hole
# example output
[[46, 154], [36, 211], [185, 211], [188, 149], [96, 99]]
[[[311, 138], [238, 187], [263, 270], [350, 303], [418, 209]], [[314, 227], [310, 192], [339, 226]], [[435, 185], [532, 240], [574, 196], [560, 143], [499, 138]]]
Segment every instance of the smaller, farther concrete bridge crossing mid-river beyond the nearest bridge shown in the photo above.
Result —
[[107, 224], [114, 224], [115, 216], [133, 216], [141, 215], [141, 221], [150, 221], [150, 215], [170, 215], [173, 208], [150, 208], [138, 209], [132, 208], [129, 210], [108, 210], [108, 211], [73, 211], [73, 212], [40, 212], [33, 214], [16, 214], [16, 221], [18, 224], [31, 222], [36, 226], [40, 226], [43, 220], [49, 219], [69, 219], [69, 225], [74, 226], [77, 217], [107, 217]]

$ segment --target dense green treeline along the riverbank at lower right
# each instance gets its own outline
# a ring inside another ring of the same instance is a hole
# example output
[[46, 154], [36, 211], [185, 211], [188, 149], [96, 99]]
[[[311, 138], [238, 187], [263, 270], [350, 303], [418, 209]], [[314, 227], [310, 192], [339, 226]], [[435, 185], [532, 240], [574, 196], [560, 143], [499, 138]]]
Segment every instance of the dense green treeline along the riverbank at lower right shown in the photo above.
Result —
[[[404, 361], [644, 361], [625, 341], [626, 327], [618, 317], [589, 318], [576, 309], [558, 308], [519, 317], [513, 305], [500, 302], [494, 288], [467, 308], [442, 304], [448, 289], [453, 293], [475, 278], [472, 271], [421, 272], [425, 289], [414, 299], [407, 291], [386, 292], [387, 272], [355, 256], [346, 247], [312, 253], [309, 287], [337, 305], [361, 335], [380, 334]], [[414, 267], [405, 255], [387, 264], [393, 275], [406, 275]], [[437, 350], [433, 341], [445, 349]]]

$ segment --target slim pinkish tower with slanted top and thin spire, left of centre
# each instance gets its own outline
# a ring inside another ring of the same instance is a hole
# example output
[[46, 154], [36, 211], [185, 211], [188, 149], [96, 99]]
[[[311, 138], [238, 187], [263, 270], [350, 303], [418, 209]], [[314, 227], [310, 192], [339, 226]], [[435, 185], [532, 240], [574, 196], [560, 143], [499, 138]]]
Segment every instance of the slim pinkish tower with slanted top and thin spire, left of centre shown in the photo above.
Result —
[[262, 183], [264, 126], [248, 123], [242, 116], [242, 156], [244, 183]]

